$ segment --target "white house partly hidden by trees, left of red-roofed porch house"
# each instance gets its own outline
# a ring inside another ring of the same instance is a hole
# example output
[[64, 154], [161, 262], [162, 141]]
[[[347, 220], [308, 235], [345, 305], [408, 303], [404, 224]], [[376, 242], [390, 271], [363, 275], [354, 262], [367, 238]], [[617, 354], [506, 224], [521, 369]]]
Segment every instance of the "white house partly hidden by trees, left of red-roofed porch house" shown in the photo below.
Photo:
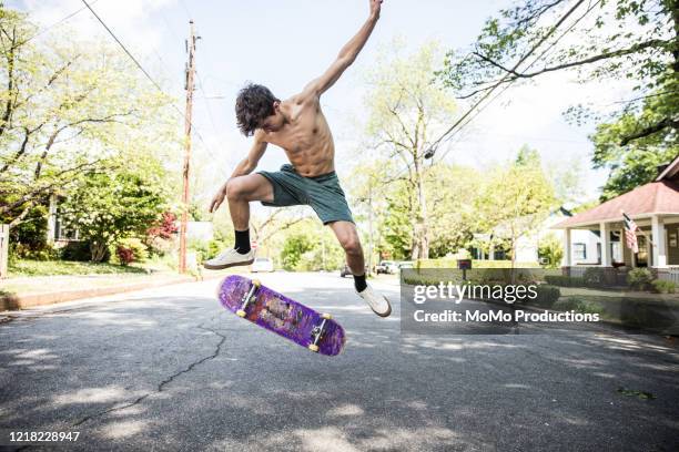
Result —
[[[563, 232], [554, 230], [553, 226], [563, 222], [565, 218], [572, 216], [570, 210], [559, 207], [553, 210], [534, 232], [519, 236], [516, 240], [516, 261], [517, 263], [538, 263], [539, 244], [549, 235], [555, 235], [557, 239], [563, 240]], [[571, 261], [579, 264], [596, 264], [597, 263], [597, 246], [599, 237], [596, 232], [591, 230], [574, 230], [572, 233], [572, 249]], [[506, 227], [496, 227], [493, 234], [495, 237], [507, 238]], [[490, 242], [490, 235], [475, 234], [474, 238], [480, 242]], [[472, 248], [472, 256], [475, 259], [503, 260], [508, 259], [509, 250], [491, 247], [489, 253], [483, 253], [482, 249]]]

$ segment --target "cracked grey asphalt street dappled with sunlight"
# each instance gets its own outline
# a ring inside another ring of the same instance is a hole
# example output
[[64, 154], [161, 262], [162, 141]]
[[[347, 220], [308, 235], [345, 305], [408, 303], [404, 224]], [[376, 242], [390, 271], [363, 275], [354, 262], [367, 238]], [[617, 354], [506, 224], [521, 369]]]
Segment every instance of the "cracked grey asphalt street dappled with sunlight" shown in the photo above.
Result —
[[83, 451], [679, 450], [665, 338], [406, 335], [395, 279], [382, 319], [337, 274], [259, 277], [333, 314], [345, 351], [225, 311], [217, 280], [22, 311], [0, 323], [0, 431], [78, 431], [61, 446]]

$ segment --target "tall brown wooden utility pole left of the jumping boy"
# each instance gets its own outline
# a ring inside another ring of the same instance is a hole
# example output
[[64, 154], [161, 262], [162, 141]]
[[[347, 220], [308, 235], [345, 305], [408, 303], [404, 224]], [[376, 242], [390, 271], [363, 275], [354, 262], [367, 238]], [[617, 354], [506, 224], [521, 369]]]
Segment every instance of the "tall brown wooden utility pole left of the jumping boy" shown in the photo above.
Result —
[[182, 220], [180, 226], [180, 261], [179, 271], [186, 273], [186, 222], [189, 220], [189, 172], [191, 170], [191, 111], [193, 107], [193, 75], [195, 73], [195, 37], [193, 29], [193, 20], [189, 21], [191, 27], [191, 35], [185, 41], [186, 52], [189, 52], [189, 62], [186, 63], [185, 74], [186, 84], [186, 114], [184, 116], [184, 171], [183, 171], [183, 189], [182, 189]]

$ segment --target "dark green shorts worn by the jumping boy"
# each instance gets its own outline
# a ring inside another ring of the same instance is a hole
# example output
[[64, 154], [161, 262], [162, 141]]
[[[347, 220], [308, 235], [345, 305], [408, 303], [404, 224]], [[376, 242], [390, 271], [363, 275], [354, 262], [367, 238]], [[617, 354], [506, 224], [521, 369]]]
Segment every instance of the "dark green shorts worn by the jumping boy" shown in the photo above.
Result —
[[295, 168], [285, 164], [281, 171], [271, 173], [259, 171], [271, 182], [274, 188], [273, 203], [262, 202], [262, 205], [273, 207], [311, 206], [324, 225], [332, 222], [352, 222], [352, 210], [348, 208], [344, 191], [340, 186], [337, 174], [322, 174], [314, 177], [304, 177]]

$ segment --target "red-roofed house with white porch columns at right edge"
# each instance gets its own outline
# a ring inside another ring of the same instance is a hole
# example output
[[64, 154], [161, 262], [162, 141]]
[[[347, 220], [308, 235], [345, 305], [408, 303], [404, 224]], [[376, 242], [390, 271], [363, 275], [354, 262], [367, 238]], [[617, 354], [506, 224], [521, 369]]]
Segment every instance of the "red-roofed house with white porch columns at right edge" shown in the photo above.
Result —
[[[634, 254], [625, 244], [622, 212], [638, 226], [639, 253]], [[564, 232], [564, 249], [569, 250], [563, 261], [567, 275], [580, 276], [592, 265], [620, 268], [620, 271], [648, 267], [659, 278], [679, 281], [679, 156], [661, 167], [653, 182], [557, 223], [553, 228]], [[598, 236], [594, 263], [574, 259], [576, 237], [581, 230]]]

